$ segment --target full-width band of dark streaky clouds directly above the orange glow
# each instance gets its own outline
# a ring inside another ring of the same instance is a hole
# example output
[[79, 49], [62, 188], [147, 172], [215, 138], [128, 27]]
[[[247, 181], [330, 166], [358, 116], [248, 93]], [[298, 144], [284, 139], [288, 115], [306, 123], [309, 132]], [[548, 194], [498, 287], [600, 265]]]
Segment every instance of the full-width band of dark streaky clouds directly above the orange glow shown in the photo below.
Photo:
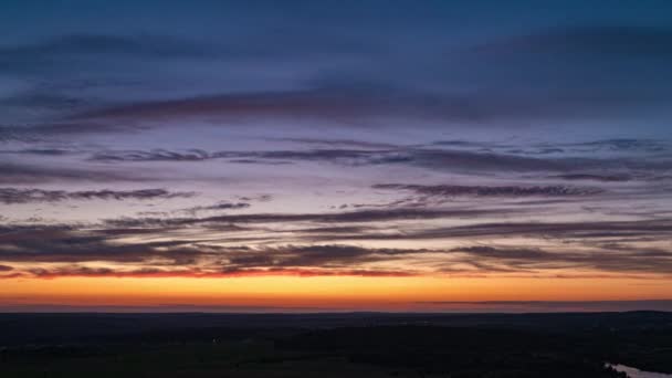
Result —
[[[286, 221], [285, 221], [286, 223]], [[296, 229], [295, 240], [311, 243], [271, 244], [283, 231], [264, 230], [264, 235], [222, 238], [227, 244], [198, 232], [178, 239], [176, 228], [92, 229], [81, 225], [21, 227], [0, 229], [0, 263], [20, 263], [11, 275], [39, 277], [77, 276], [245, 276], [245, 275], [367, 275], [403, 276], [419, 274], [561, 274], [565, 270], [584, 274], [672, 274], [672, 251], [642, 246], [647, 242], [664, 241], [672, 231], [665, 221], [586, 223], [501, 223], [473, 224], [447, 229], [405, 230], [403, 233], [378, 233], [381, 229]], [[536, 224], [536, 225], [535, 225]], [[140, 231], [140, 233], [137, 233]], [[229, 232], [244, 233], [250, 229], [234, 227]], [[254, 230], [253, 230], [254, 231]], [[255, 233], [259, 230], [256, 230]], [[354, 232], [350, 234], [349, 232]], [[126, 237], [143, 235], [130, 241]], [[172, 234], [171, 238], [166, 235]], [[305, 235], [306, 238], [302, 238]], [[315, 242], [348, 240], [347, 243]], [[623, 243], [612, 238], [631, 238]], [[547, 250], [539, 248], [463, 245], [441, 249], [370, 248], [354, 245], [354, 240], [418, 240], [418, 239], [563, 238], [567, 241]], [[605, 242], [608, 241], [608, 242]], [[231, 243], [242, 244], [232, 245]], [[99, 267], [93, 263], [113, 265]], [[410, 263], [412, 262], [412, 263]], [[50, 266], [45, 266], [49, 264]], [[390, 265], [391, 264], [391, 265]], [[382, 269], [381, 266], [388, 266]], [[399, 266], [390, 270], [389, 266]], [[6, 270], [7, 271], [7, 270]], [[9, 271], [7, 271], [9, 272]], [[554, 273], [560, 272], [560, 273]], [[592, 272], [592, 273], [590, 273]]]

